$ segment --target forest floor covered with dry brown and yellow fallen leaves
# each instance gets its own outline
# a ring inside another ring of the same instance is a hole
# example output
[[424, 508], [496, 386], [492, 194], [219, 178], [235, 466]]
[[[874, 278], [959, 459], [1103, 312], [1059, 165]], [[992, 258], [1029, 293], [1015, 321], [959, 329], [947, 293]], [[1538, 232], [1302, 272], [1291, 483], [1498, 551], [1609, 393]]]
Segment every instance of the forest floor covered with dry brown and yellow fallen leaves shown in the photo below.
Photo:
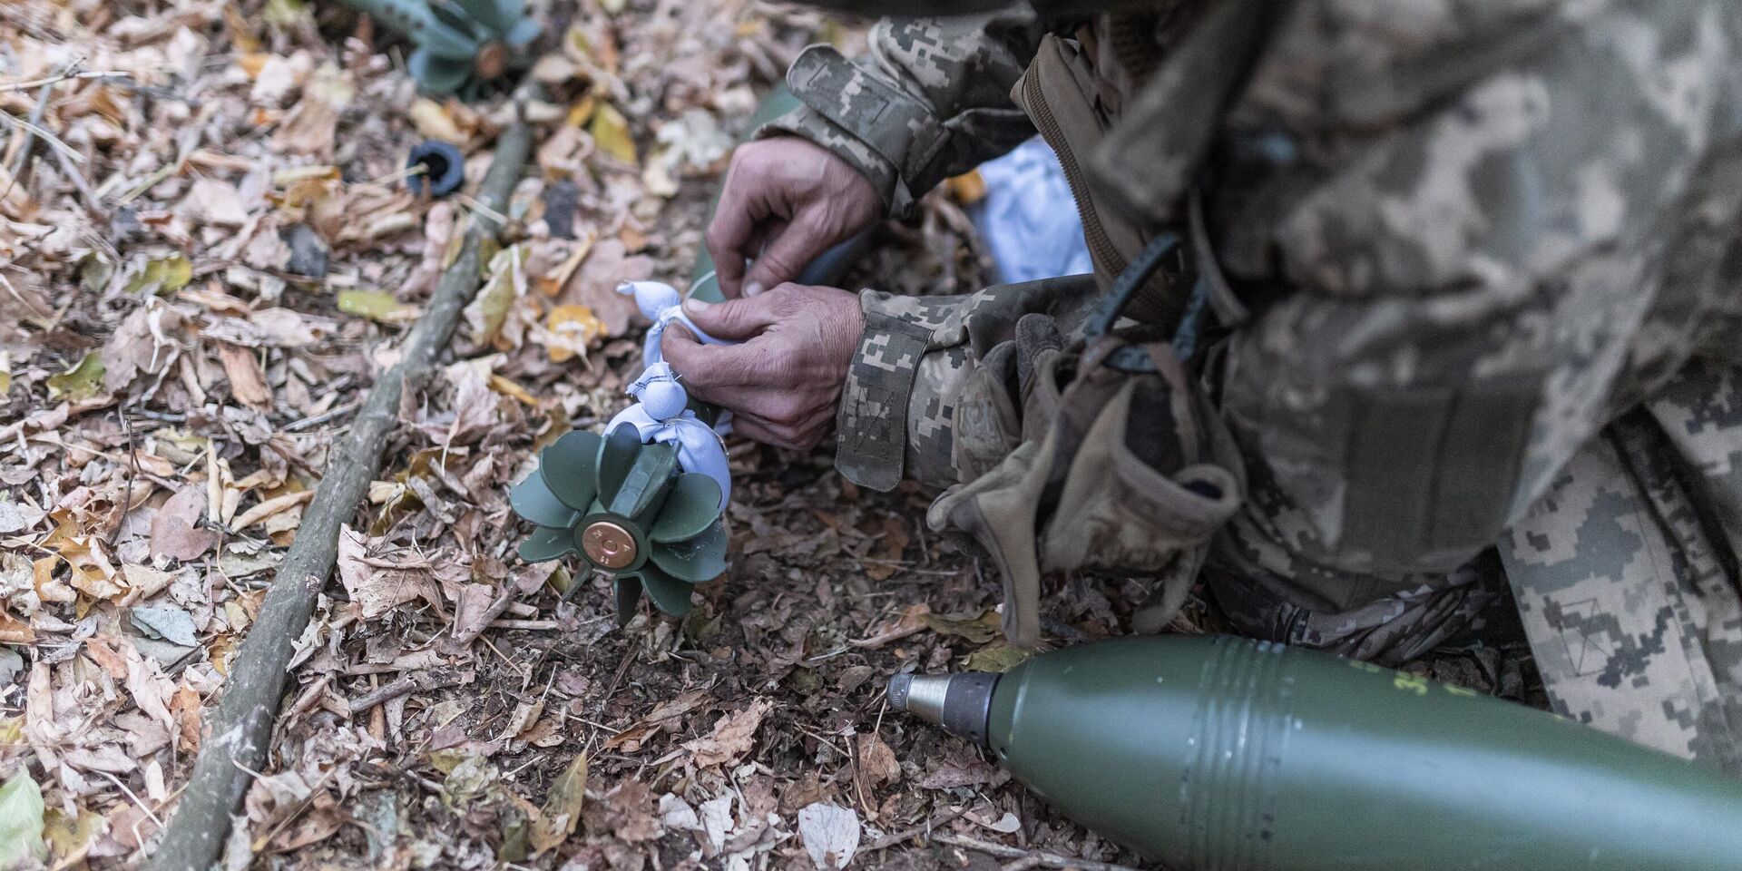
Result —
[[[1141, 866], [887, 711], [895, 671], [1021, 657], [928, 493], [733, 442], [732, 568], [681, 624], [618, 629], [603, 582], [559, 604], [554, 564], [514, 557], [507, 488], [625, 404], [643, 324], [611, 287], [681, 282], [758, 94], [805, 44], [859, 40], [744, 0], [535, 10], [549, 101], [512, 246], [401, 404], [225, 866]], [[460, 145], [476, 192], [507, 99], [418, 98], [408, 51], [338, 3], [0, 5], [0, 834], [40, 834], [24, 868], [150, 854], [329, 451], [476, 207], [408, 193], [404, 155]], [[942, 193], [880, 242], [854, 286], [986, 275]], [[1124, 634], [1146, 591], [1059, 578], [1047, 631]], [[1193, 598], [1174, 629], [1219, 625]], [[1540, 704], [1516, 655], [1421, 669]]]

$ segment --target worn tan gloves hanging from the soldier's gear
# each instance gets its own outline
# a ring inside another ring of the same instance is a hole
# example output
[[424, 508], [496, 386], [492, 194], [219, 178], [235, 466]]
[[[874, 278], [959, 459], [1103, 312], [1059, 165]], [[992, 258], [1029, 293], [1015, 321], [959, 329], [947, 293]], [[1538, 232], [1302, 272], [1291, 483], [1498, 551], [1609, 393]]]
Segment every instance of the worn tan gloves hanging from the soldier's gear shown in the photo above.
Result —
[[[1101, 366], [1120, 348], [1141, 348], [1153, 371]], [[1052, 352], [1035, 362], [1021, 444], [939, 496], [927, 524], [962, 531], [991, 554], [1012, 645], [1040, 643], [1042, 571], [1157, 575], [1164, 608], [1178, 610], [1209, 537], [1240, 500], [1232, 439], [1165, 343], [1101, 338], [1080, 357]]]

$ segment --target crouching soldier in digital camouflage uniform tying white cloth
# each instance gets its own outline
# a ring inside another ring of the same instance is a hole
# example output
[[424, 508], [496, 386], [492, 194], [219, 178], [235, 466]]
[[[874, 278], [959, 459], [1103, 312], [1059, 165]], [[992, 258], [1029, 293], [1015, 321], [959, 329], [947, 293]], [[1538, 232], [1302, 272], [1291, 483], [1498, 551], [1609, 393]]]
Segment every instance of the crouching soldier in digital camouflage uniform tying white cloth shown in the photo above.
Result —
[[[1510, 580], [1559, 711], [1742, 773], [1742, 5], [998, 10], [787, 84], [709, 232], [749, 296], [697, 312], [749, 341], [667, 359], [765, 441], [834, 416], [861, 484], [951, 486], [1014, 639], [1040, 573], [1103, 566], [1399, 662]], [[1094, 277], [779, 286], [1036, 129]]]

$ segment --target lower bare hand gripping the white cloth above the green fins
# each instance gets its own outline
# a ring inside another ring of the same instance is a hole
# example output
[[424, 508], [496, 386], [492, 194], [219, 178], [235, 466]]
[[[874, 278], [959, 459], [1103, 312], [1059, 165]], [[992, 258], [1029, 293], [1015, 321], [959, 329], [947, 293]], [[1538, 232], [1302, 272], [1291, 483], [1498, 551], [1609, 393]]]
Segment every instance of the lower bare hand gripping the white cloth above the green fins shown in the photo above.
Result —
[[810, 449], [829, 434], [864, 331], [855, 294], [780, 284], [683, 308], [711, 336], [742, 341], [702, 345], [678, 321], [665, 327], [660, 348], [690, 395], [732, 409], [737, 432], [765, 444]]

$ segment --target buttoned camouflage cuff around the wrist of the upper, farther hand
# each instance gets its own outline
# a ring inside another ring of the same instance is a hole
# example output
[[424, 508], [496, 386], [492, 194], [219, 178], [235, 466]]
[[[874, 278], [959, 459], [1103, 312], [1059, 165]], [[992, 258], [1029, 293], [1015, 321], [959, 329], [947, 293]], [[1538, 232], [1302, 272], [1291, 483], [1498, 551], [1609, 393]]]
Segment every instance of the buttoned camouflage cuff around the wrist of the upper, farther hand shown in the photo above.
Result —
[[829, 45], [805, 49], [787, 70], [786, 82], [807, 106], [895, 167], [899, 178], [892, 207], [897, 213], [908, 211], [916, 200], [908, 179], [920, 176], [944, 143], [944, 125], [930, 106], [848, 63]]

